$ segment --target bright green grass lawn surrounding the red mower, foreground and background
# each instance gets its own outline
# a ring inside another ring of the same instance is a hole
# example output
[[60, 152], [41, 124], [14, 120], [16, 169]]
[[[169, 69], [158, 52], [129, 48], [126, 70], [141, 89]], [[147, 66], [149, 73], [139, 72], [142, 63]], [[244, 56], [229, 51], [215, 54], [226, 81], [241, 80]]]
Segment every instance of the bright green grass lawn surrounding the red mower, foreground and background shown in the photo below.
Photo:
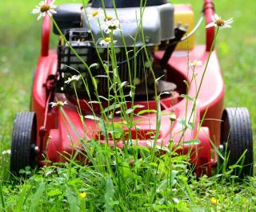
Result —
[[[67, 1], [58, 1], [60, 2]], [[194, 1], [173, 2], [193, 3]], [[34, 0], [26, 3], [12, 0], [2, 3], [0, 8], [1, 16], [4, 17], [0, 20], [0, 152], [10, 148], [14, 114], [29, 108], [30, 84], [40, 51], [41, 26], [30, 14], [30, 10], [37, 3], [38, 1]], [[202, 2], [194, 3], [196, 14], [199, 13], [201, 6]], [[218, 57], [226, 81], [226, 106], [239, 105], [249, 108], [255, 135], [256, 39], [254, 29], [251, 27], [254, 26], [254, 15], [248, 13], [252, 6], [254, 6], [253, 0], [243, 2], [242, 7], [238, 0], [232, 1], [231, 5], [227, 0], [216, 2], [217, 13], [223, 18], [233, 17], [235, 21], [232, 29], [219, 33], [217, 45]], [[204, 41], [202, 34], [204, 35], [204, 29], [200, 29], [197, 33], [198, 42], [201, 43]], [[56, 46], [55, 41], [56, 39], [52, 39], [53, 48]], [[101, 149], [101, 151], [106, 150]], [[102, 155], [98, 157], [98, 164], [111, 163], [107, 159], [102, 159]], [[182, 165], [182, 163], [178, 164]], [[138, 165], [152, 169], [151, 165], [146, 163], [138, 163]], [[5, 155], [0, 155], [0, 167], [0, 178], [6, 179], [8, 159]], [[8, 211], [76, 211], [78, 208], [92, 211], [102, 208], [108, 211], [114, 208], [136, 210], [136, 204], [138, 211], [145, 208], [158, 211], [210, 211], [220, 208], [222, 211], [256, 210], [255, 177], [245, 183], [234, 183], [230, 175], [224, 179], [216, 176], [197, 181], [193, 177], [188, 178], [186, 175], [175, 175], [171, 172], [173, 175], [170, 182], [176, 183], [172, 190], [166, 190], [163, 181], [166, 179], [166, 173], [161, 170], [161, 175], [156, 181], [158, 194], [154, 204], [150, 204], [152, 176], [146, 176], [145, 179], [149, 181], [140, 184], [143, 193], [137, 190], [134, 196], [130, 196], [131, 192], [126, 194], [127, 190], [134, 190], [134, 183], [127, 179], [121, 192], [123, 193], [121, 197], [127, 195], [127, 198], [122, 199], [114, 194], [114, 185], [116, 185], [114, 179], [106, 175], [101, 176], [99, 173], [101, 171], [95, 171], [90, 167], [78, 165], [72, 167], [69, 163], [62, 164], [61, 167], [46, 167], [25, 182], [20, 179], [18, 185], [2, 182], [4, 186], [0, 184], [0, 202], [5, 202]], [[93, 178], [95, 175], [97, 178]], [[144, 173], [142, 175], [144, 176]], [[86, 181], [86, 179], [92, 180]], [[130, 176], [130, 179], [136, 181], [135, 176]], [[98, 190], [95, 189], [96, 187]], [[86, 197], [82, 194], [86, 194]], [[136, 196], [138, 194], [143, 195], [138, 198]], [[94, 202], [94, 205], [90, 202]], [[126, 206], [122, 206], [124, 202]], [[3, 205], [0, 203], [0, 206]], [[164, 208], [164, 206], [169, 207]]]

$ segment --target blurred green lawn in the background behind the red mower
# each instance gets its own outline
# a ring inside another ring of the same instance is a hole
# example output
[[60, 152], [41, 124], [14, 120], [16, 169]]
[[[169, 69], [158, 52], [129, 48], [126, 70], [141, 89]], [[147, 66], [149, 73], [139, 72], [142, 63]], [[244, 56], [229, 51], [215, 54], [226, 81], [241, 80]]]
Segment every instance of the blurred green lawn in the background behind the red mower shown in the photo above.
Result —
[[[31, 82], [40, 52], [42, 21], [31, 10], [37, 0], [2, 1], [0, 7], [0, 152], [10, 148], [14, 114], [29, 109]], [[80, 2], [60, 1], [62, 2]], [[191, 3], [196, 21], [203, 1], [173, 0]], [[234, 18], [231, 29], [221, 30], [217, 49], [226, 81], [226, 106], [249, 108], [254, 133], [256, 127], [256, 15], [254, 0], [214, 1], [216, 13], [224, 19]], [[54, 35], [52, 36], [54, 37]], [[202, 26], [196, 33], [198, 43], [205, 39]], [[56, 37], [51, 41], [56, 48]], [[0, 164], [1, 165], [1, 164]]]

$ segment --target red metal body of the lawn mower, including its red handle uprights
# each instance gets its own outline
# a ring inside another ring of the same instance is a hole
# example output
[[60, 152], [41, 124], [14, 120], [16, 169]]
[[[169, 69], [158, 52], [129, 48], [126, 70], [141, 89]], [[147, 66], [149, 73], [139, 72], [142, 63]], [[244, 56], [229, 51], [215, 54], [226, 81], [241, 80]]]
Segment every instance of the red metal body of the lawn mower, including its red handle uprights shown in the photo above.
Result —
[[[206, 23], [211, 22], [210, 16], [214, 14], [214, 7], [211, 0], [205, 0], [205, 14]], [[55, 50], [49, 50], [50, 37], [50, 18], [45, 18], [42, 26], [42, 52], [38, 60], [38, 66], [34, 77], [33, 96], [32, 96], [32, 111], [36, 112], [38, 117], [38, 139], [37, 145], [39, 147], [39, 155], [47, 155], [47, 159], [53, 162], [62, 161], [63, 152], [71, 152], [74, 147], [79, 147], [76, 143], [78, 135], [67, 124], [58, 108], [49, 108], [49, 101], [58, 97], [58, 100], [67, 100], [65, 95], [51, 93], [50, 85], [52, 79], [57, 72], [58, 58]], [[200, 60], [206, 64], [209, 57], [210, 47], [214, 39], [214, 27], [206, 29], [206, 45], [197, 45], [190, 51], [190, 61]], [[162, 52], [156, 52], [154, 57], [156, 61], [162, 58]], [[174, 52], [167, 67], [167, 79], [171, 79], [175, 84], [178, 84], [178, 93], [186, 93], [186, 86], [183, 80], [190, 83], [189, 96], [196, 96], [198, 90], [198, 83], [202, 80], [204, 66], [198, 67], [195, 80], [192, 80], [192, 73], [187, 70], [187, 52]], [[192, 82], [191, 82], [192, 81]], [[54, 97], [52, 97], [54, 96]], [[52, 99], [50, 99], [52, 98]], [[210, 55], [210, 61], [206, 70], [205, 76], [202, 80], [202, 88], [198, 94], [198, 101], [192, 116], [192, 121], [195, 128], [188, 128], [185, 132], [182, 131], [184, 126], [175, 120], [170, 121], [170, 112], [174, 112], [178, 119], [189, 120], [191, 112], [193, 111], [193, 102], [186, 99], [181, 99], [179, 96], [174, 96], [171, 99], [166, 98], [161, 100], [162, 115], [161, 126], [158, 137], [158, 144], [169, 147], [170, 139], [174, 140], [175, 146], [181, 146], [180, 154], [186, 154], [191, 151], [191, 163], [196, 167], [197, 175], [205, 173], [211, 175], [211, 167], [217, 164], [216, 153], [211, 147], [210, 140], [219, 144], [220, 139], [220, 121], [223, 111], [224, 98], [224, 83], [222, 80], [221, 69], [218, 65], [218, 57], [213, 51]], [[136, 102], [136, 104], [144, 104], [146, 107], [156, 108], [155, 102]], [[67, 116], [74, 123], [78, 133], [87, 140], [101, 139], [99, 136], [100, 129], [97, 121], [84, 120], [81, 122], [77, 112], [77, 105], [75, 101], [68, 100], [68, 105], [63, 107]], [[85, 115], [90, 114], [90, 109], [86, 108], [86, 104], [81, 105]], [[96, 110], [97, 108], [95, 108]], [[145, 108], [143, 108], [145, 109]], [[206, 116], [205, 116], [206, 114]], [[200, 120], [205, 116], [202, 127], [199, 126]], [[116, 121], [119, 117], [114, 118]], [[132, 138], [138, 138], [140, 145], [150, 145], [150, 137], [147, 132], [154, 132], [156, 129], [156, 115], [154, 113], [148, 114], [144, 119], [137, 120], [139, 132], [132, 129]], [[124, 131], [126, 129], [124, 128]], [[48, 147], [46, 147], [46, 140], [48, 135], [51, 136]], [[70, 140], [70, 135], [72, 140]], [[139, 136], [138, 136], [139, 135]], [[200, 144], [184, 145], [184, 141], [191, 139], [199, 139]], [[101, 140], [102, 143], [106, 142]], [[113, 145], [113, 141], [108, 141]], [[122, 143], [118, 143], [118, 147], [122, 147]], [[39, 163], [42, 163], [42, 158], [39, 156]], [[42, 163], [43, 164], [43, 163]]]

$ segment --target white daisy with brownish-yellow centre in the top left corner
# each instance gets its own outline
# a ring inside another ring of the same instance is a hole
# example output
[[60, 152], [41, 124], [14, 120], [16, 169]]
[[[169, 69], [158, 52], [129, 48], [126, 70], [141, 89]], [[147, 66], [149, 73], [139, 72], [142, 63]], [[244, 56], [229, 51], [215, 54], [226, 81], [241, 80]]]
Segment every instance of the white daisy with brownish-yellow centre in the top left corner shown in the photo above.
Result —
[[46, 1], [41, 1], [38, 6], [35, 6], [35, 8], [32, 10], [32, 14], [39, 14], [38, 20], [42, 17], [45, 17], [46, 14], [56, 14], [57, 12], [54, 10], [56, 6], [54, 5], [54, 1], [50, 2], [50, 4], [47, 4]]

